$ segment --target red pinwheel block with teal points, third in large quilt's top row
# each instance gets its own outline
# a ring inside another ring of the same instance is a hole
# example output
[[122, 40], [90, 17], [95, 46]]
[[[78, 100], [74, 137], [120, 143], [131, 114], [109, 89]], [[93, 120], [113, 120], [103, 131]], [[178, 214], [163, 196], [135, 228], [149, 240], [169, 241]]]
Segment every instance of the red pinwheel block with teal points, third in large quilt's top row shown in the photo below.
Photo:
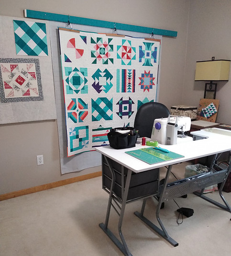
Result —
[[122, 39], [122, 44], [117, 46], [117, 58], [121, 59], [121, 65], [132, 65], [132, 60], [136, 59], [135, 54], [131, 40]]

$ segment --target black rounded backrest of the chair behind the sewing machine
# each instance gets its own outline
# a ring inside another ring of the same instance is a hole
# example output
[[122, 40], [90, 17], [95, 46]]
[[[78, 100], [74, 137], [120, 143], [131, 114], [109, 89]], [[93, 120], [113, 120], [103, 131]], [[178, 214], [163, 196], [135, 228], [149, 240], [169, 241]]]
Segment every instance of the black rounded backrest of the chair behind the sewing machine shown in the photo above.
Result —
[[134, 128], [139, 130], [140, 137], [151, 138], [154, 120], [168, 117], [168, 115], [170, 112], [164, 104], [158, 102], [144, 103], [137, 110]]

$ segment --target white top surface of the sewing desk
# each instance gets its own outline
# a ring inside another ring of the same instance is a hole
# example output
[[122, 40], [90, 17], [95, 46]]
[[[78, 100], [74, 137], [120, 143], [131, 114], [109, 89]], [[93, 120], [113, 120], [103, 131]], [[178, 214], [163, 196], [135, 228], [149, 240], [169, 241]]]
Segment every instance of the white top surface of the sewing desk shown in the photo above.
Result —
[[202, 135], [204, 137], [208, 137], [208, 139], [204, 140], [195, 140], [189, 141], [186, 143], [180, 143], [175, 145], [160, 145], [160, 147], [168, 149], [169, 151], [173, 151], [175, 153], [184, 155], [183, 158], [165, 161], [162, 163], [148, 164], [139, 159], [136, 159], [133, 156], [130, 156], [125, 151], [132, 151], [148, 146], [142, 146], [140, 144], [136, 144], [136, 147], [130, 149], [121, 149], [116, 150], [111, 148], [110, 146], [99, 147], [96, 148], [96, 151], [101, 154], [109, 157], [112, 160], [115, 160], [118, 163], [121, 163], [123, 166], [129, 168], [135, 173], [140, 173], [143, 171], [175, 164], [181, 163], [185, 161], [189, 161], [192, 159], [213, 155], [220, 152], [230, 151], [231, 150], [231, 136], [220, 135], [217, 133], [207, 132], [207, 131], [195, 131], [193, 132], [195, 135]]

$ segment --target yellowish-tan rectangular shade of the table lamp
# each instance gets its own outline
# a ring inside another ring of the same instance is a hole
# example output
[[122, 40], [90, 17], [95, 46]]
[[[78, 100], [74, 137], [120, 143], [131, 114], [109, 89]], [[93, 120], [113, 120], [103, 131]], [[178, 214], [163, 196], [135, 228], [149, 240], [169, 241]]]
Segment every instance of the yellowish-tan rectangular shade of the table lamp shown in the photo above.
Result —
[[195, 81], [229, 81], [230, 60], [197, 61]]

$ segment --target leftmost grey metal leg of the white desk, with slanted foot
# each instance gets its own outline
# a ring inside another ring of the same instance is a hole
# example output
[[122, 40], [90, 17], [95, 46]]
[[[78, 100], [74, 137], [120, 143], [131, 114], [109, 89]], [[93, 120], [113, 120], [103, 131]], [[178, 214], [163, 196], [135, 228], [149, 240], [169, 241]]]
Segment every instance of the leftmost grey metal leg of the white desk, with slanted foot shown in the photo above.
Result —
[[126, 241], [124, 239], [124, 236], [123, 236], [122, 230], [121, 230], [123, 215], [124, 215], [125, 206], [126, 206], [127, 197], [128, 197], [129, 185], [130, 185], [131, 176], [132, 176], [132, 171], [128, 170], [126, 184], [125, 184], [125, 188], [124, 188], [124, 192], [123, 192], [123, 196], [122, 196], [121, 212], [120, 212], [120, 218], [119, 218], [119, 222], [118, 222], [118, 232], [119, 232], [119, 235], [120, 235], [120, 238], [121, 238], [121, 241], [120, 241], [119, 239], [117, 239], [117, 237], [108, 228], [110, 208], [111, 208], [111, 205], [112, 205], [112, 191], [113, 191], [113, 187], [114, 187], [114, 183], [115, 183], [115, 174], [114, 174], [113, 169], [111, 168], [110, 160], [106, 156], [104, 156], [104, 158], [105, 158], [105, 160], [108, 163], [108, 166], [110, 168], [110, 172], [112, 174], [112, 181], [111, 181], [111, 186], [110, 186], [110, 196], [109, 196], [109, 201], [108, 201], [108, 209], [107, 209], [105, 224], [100, 223], [99, 227], [108, 235], [108, 237], [111, 239], [111, 241], [121, 250], [123, 255], [132, 256], [131, 252], [128, 249], [128, 246], [126, 244]]

